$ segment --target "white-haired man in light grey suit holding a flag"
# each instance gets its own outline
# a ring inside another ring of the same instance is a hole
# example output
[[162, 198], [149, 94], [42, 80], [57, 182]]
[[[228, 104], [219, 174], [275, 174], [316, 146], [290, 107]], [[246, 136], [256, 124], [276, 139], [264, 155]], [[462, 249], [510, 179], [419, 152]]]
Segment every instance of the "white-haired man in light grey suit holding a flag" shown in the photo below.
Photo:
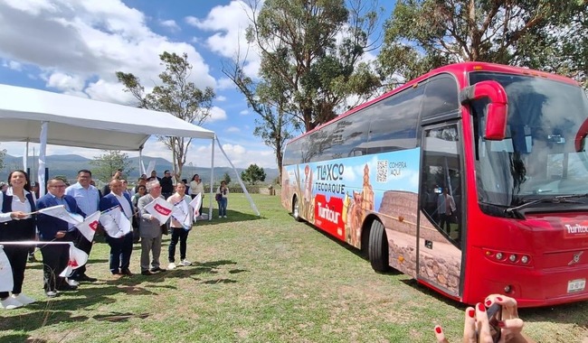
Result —
[[[139, 222], [139, 235], [141, 236], [141, 274], [151, 275], [155, 272], [164, 272], [159, 264], [161, 255], [161, 224], [159, 219], [147, 212], [145, 207], [156, 198], [165, 198], [161, 195], [159, 181], [147, 182], [147, 194], [138, 199], [137, 208], [141, 215]], [[153, 255], [151, 269], [149, 269], [149, 254]]]

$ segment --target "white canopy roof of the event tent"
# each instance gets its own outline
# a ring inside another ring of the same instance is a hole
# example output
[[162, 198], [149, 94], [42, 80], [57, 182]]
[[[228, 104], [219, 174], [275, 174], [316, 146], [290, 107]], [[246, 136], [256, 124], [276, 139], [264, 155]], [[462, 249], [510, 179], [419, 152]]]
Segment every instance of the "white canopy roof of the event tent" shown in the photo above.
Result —
[[165, 112], [128, 107], [39, 89], [0, 85], [0, 141], [137, 151], [150, 135], [214, 138], [213, 131]]

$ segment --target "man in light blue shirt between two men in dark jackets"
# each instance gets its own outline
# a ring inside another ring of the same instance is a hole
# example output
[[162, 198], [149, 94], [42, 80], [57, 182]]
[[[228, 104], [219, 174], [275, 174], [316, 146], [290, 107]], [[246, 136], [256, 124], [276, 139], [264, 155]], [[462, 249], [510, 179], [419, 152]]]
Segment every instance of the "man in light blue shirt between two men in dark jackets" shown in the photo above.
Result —
[[[65, 194], [76, 199], [78, 207], [87, 216], [90, 216], [92, 213], [98, 210], [98, 204], [100, 202], [100, 193], [96, 187], [90, 184], [91, 181], [92, 172], [87, 169], [82, 169], [80, 172], [78, 172], [78, 182], [65, 189]], [[75, 241], [75, 246], [86, 254], [90, 255], [92, 242], [89, 242], [85, 236], [80, 234]], [[96, 278], [86, 275], [85, 264], [74, 270], [70, 279], [76, 280], [78, 282], [87, 281], [90, 283], [97, 281]]]

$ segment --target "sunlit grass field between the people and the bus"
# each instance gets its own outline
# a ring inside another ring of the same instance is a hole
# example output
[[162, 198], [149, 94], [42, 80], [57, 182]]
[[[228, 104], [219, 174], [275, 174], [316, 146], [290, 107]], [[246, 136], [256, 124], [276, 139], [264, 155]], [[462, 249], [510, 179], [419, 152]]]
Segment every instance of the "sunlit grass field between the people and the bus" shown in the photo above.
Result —
[[[115, 280], [109, 246], [97, 243], [88, 274], [99, 282], [47, 300], [42, 264], [29, 264], [24, 293], [38, 302], [0, 311], [0, 342], [432, 342], [436, 324], [460, 341], [464, 306], [403, 274], [375, 273], [355, 250], [295, 222], [278, 197], [253, 199], [261, 218], [232, 194], [229, 218], [197, 223], [188, 267]], [[136, 245], [134, 273], [139, 255]], [[588, 342], [586, 301], [519, 312], [538, 342]]]

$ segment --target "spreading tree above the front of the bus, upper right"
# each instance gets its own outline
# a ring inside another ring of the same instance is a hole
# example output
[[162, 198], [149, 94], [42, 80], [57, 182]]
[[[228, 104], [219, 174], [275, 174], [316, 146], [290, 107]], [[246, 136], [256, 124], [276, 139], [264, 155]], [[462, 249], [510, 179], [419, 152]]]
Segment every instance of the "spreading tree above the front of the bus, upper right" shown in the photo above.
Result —
[[[378, 71], [389, 88], [432, 68], [488, 61], [586, 74], [583, 1], [399, 0], [384, 24]], [[572, 35], [570, 35], [570, 32]], [[583, 60], [582, 60], [583, 56]], [[565, 71], [565, 66], [574, 70]]]

